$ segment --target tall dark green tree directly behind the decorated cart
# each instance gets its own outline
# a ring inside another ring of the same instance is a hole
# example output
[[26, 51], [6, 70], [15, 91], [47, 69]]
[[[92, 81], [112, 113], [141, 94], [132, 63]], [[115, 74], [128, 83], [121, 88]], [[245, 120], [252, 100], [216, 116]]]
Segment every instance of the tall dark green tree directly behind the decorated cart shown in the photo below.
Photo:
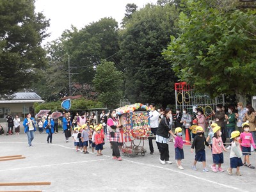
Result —
[[125, 98], [131, 102], [155, 102], [164, 108], [175, 102], [176, 79], [161, 52], [170, 43], [170, 35], [177, 35], [178, 15], [173, 4], [147, 4], [132, 14], [122, 31]]

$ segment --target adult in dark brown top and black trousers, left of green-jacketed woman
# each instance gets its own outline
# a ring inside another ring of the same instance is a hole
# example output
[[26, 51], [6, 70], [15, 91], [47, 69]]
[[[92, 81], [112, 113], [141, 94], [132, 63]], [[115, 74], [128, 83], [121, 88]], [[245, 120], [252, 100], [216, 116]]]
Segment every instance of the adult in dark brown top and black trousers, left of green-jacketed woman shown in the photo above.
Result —
[[222, 104], [217, 104], [216, 106], [216, 112], [212, 111], [213, 115], [214, 115], [214, 120], [216, 122], [216, 124], [221, 127], [221, 139], [223, 141], [223, 145], [225, 146], [226, 143], [226, 135], [225, 135], [225, 111], [222, 110]]

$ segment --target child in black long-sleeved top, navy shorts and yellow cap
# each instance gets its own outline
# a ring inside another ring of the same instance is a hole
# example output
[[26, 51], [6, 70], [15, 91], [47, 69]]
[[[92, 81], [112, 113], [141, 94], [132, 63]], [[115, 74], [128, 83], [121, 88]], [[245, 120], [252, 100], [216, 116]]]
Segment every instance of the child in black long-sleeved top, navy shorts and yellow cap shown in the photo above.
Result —
[[202, 161], [203, 163], [203, 172], [209, 172], [207, 168], [205, 167], [205, 147], [204, 145], [211, 148], [211, 145], [207, 143], [206, 138], [204, 136], [204, 129], [201, 126], [196, 127], [196, 136], [193, 140], [193, 143], [191, 145], [191, 153], [193, 153], [193, 148], [195, 147], [196, 150], [196, 156], [195, 161], [192, 166], [192, 170], [196, 170], [196, 163], [197, 161]]

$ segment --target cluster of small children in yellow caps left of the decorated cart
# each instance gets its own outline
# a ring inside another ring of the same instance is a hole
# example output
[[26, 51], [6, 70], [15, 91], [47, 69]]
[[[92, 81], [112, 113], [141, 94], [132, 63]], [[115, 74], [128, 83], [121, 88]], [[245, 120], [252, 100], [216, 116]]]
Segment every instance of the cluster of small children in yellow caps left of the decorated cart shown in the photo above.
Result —
[[95, 125], [94, 127], [93, 125], [90, 125], [89, 129], [87, 124], [84, 124], [81, 127], [74, 127], [72, 138], [77, 152], [80, 150], [84, 154], [88, 154], [87, 147], [89, 145], [89, 148], [92, 148], [93, 153], [95, 148], [97, 156], [102, 156], [104, 145], [104, 131], [102, 124]]

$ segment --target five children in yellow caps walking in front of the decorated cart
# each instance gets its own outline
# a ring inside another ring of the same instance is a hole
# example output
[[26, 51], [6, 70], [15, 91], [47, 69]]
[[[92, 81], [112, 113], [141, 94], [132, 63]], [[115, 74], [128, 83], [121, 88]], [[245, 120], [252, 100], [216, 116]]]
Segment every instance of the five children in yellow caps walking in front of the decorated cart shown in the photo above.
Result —
[[[232, 169], [236, 168], [236, 175], [241, 176], [239, 171], [240, 166], [247, 166], [248, 168], [254, 168], [252, 164], [250, 164], [249, 157], [251, 155], [251, 145], [255, 147], [252, 133], [249, 132], [249, 124], [244, 123], [242, 125], [243, 132], [233, 131], [231, 133], [230, 143], [230, 168], [228, 168], [227, 172], [229, 175], [232, 175]], [[211, 166], [212, 172], [224, 172], [223, 168], [221, 168], [221, 164], [224, 163], [223, 150], [227, 152], [227, 149], [223, 145], [223, 141], [221, 139], [221, 127], [217, 124], [211, 124], [211, 130], [209, 132], [209, 136], [207, 139], [204, 136], [204, 130], [200, 126], [192, 127], [194, 132], [194, 140], [191, 145], [191, 153], [193, 153], [193, 149], [195, 148], [195, 160], [193, 161], [192, 170], [196, 170], [196, 163], [202, 162], [203, 164], [203, 172], [209, 172], [205, 166], [205, 145], [212, 150], [212, 160], [213, 164]], [[183, 144], [186, 141], [182, 140], [182, 129], [177, 127], [175, 129], [175, 159], [177, 160], [177, 166], [179, 169], [183, 170], [184, 168], [181, 165], [181, 160], [184, 159], [184, 151]], [[240, 144], [241, 143], [241, 144]], [[244, 163], [241, 157], [244, 156]], [[218, 164], [218, 168], [216, 165]]]

